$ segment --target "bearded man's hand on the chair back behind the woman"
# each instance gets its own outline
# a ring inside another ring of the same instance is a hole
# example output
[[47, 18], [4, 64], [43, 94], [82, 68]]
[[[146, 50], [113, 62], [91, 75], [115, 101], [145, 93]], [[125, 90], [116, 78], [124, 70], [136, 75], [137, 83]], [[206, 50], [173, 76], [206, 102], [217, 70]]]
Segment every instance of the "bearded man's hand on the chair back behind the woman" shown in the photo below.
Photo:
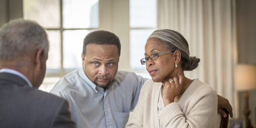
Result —
[[225, 108], [228, 113], [230, 114], [230, 117], [233, 118], [233, 112], [232, 112], [232, 106], [229, 104], [228, 100], [222, 96], [217, 95], [218, 97], [218, 113], [220, 113], [224, 118], [227, 117], [227, 114], [222, 108]]

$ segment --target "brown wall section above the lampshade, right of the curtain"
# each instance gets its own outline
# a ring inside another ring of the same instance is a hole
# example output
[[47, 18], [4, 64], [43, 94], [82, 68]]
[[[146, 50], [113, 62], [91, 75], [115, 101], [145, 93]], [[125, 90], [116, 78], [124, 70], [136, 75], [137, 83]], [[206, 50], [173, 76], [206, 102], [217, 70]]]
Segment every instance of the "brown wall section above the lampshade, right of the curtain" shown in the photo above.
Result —
[[256, 64], [256, 0], [237, 0], [238, 63]]

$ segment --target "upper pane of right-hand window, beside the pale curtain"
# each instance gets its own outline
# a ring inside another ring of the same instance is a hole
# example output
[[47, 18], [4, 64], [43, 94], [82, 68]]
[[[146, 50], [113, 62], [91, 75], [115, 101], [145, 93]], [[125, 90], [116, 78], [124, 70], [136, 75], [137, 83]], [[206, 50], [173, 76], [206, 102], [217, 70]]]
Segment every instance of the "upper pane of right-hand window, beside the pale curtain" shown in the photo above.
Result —
[[130, 0], [130, 27], [156, 28], [156, 0]]

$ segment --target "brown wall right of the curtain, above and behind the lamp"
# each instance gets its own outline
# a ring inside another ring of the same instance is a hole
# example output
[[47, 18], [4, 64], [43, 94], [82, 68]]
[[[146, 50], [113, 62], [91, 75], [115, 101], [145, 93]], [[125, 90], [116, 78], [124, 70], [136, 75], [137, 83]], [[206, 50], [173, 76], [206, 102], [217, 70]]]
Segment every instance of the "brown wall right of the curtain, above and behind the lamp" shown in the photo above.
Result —
[[[236, 0], [238, 63], [256, 64], [256, 0]], [[251, 124], [256, 124], [256, 90], [249, 91]], [[244, 92], [239, 92], [239, 117], [244, 118]]]

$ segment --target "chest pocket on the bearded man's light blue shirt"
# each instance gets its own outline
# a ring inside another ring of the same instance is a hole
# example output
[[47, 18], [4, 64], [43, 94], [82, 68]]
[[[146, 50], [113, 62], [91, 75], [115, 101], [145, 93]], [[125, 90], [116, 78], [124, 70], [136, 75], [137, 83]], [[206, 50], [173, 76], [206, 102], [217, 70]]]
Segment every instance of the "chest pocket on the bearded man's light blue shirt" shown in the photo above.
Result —
[[128, 122], [130, 112], [114, 112], [114, 120], [116, 122], [117, 128], [125, 128]]

